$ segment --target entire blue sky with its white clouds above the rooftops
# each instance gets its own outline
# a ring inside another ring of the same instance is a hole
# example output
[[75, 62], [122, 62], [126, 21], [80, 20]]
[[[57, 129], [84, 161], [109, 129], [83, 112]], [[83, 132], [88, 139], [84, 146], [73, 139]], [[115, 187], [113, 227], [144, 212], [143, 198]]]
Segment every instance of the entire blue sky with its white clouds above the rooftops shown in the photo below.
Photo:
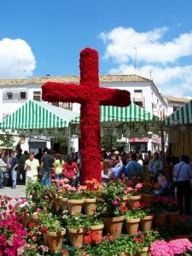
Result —
[[191, 0], [1, 0], [0, 79], [78, 75], [90, 47], [100, 74], [137, 73], [192, 97], [191, 10]]

